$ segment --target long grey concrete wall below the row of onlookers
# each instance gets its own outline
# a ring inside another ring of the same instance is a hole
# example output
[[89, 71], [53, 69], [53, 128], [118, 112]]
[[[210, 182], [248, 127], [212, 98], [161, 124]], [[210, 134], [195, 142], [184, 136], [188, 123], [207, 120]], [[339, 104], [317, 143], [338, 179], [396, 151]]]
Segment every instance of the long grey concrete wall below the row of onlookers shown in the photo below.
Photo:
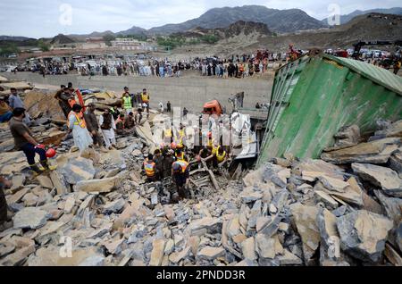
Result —
[[172, 107], [186, 107], [190, 112], [200, 112], [205, 102], [218, 99], [228, 111], [231, 105], [228, 98], [232, 94], [245, 92], [245, 107], [255, 107], [255, 103], [267, 103], [271, 96], [272, 78], [267, 79], [218, 79], [197, 75], [181, 78], [154, 77], [82, 77], [78, 75], [46, 76], [31, 72], [20, 72], [16, 75], [4, 73], [9, 79], [25, 79], [31, 83], [45, 85], [67, 85], [71, 82], [74, 88], [100, 88], [122, 93], [125, 86], [130, 93], [137, 93], [147, 88], [151, 96], [151, 107], [156, 108], [160, 101], [164, 104], [170, 100]]

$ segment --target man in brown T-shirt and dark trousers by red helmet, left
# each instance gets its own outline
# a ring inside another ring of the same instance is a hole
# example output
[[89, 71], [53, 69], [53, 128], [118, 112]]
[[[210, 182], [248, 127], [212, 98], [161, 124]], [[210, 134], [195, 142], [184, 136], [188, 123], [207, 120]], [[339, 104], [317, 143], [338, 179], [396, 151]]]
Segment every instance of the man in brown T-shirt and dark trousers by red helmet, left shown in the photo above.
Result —
[[[17, 107], [13, 110], [13, 118], [10, 121], [10, 131], [14, 138], [15, 148], [21, 150], [27, 156], [27, 160], [32, 171], [40, 174], [46, 170], [54, 170], [49, 166], [46, 157], [45, 146], [40, 145], [32, 135], [28, 126], [22, 122], [25, 117], [25, 109]], [[40, 156], [40, 165], [35, 163], [35, 155]]]

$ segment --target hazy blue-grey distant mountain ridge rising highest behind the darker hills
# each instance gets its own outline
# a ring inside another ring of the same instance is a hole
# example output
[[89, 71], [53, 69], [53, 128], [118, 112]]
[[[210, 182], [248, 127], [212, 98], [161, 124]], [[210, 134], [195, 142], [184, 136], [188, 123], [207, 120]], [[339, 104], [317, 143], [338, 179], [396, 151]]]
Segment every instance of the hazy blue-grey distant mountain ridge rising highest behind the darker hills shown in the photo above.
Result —
[[196, 27], [205, 29], [224, 28], [237, 21], [262, 22], [276, 32], [320, 29], [326, 26], [299, 9], [275, 10], [261, 5], [244, 5], [234, 8], [214, 8], [197, 19], [149, 29], [148, 33], [172, 34]]

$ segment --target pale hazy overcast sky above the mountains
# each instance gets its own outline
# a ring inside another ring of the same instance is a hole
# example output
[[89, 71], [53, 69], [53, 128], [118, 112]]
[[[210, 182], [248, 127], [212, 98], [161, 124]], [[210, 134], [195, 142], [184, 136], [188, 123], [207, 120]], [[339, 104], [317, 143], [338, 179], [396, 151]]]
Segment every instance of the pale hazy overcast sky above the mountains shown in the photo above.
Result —
[[1, 0], [0, 35], [40, 38], [117, 32], [134, 25], [149, 29], [197, 18], [214, 7], [244, 4], [299, 8], [319, 20], [329, 15], [329, 4], [338, 4], [340, 14], [402, 5], [400, 0]]

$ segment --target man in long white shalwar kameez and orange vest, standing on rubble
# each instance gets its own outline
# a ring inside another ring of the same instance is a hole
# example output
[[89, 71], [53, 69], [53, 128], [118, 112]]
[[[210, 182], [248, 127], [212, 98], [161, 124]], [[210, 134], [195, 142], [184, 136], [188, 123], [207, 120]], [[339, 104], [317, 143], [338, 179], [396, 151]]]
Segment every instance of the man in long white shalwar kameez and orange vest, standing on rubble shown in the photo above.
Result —
[[82, 154], [93, 143], [81, 110], [82, 107], [80, 106], [80, 104], [74, 104], [72, 106], [71, 113], [69, 113], [68, 115], [68, 126], [70, 131], [72, 132], [74, 145], [80, 148], [80, 154]]

